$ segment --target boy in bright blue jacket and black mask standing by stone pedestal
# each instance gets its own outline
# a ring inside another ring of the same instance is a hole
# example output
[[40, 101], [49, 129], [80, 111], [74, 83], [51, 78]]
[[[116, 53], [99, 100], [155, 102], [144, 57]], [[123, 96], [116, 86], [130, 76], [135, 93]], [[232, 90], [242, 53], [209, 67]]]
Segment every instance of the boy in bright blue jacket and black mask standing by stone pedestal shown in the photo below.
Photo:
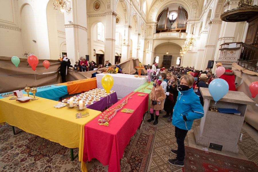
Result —
[[193, 92], [194, 78], [192, 75], [184, 75], [180, 78], [178, 97], [173, 110], [172, 124], [175, 126], [175, 137], [177, 138], [177, 150], [171, 152], [177, 155], [176, 159], [169, 159], [174, 166], [184, 167], [185, 158], [185, 136], [191, 130], [193, 120], [202, 118], [204, 110], [199, 97]]

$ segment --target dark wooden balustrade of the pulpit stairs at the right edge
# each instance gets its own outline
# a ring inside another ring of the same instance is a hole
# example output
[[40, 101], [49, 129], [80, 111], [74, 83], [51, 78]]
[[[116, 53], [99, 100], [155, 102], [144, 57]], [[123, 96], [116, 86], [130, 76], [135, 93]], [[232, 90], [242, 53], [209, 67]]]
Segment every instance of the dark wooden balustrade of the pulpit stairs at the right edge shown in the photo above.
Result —
[[258, 72], [258, 47], [243, 43], [238, 64], [245, 69]]

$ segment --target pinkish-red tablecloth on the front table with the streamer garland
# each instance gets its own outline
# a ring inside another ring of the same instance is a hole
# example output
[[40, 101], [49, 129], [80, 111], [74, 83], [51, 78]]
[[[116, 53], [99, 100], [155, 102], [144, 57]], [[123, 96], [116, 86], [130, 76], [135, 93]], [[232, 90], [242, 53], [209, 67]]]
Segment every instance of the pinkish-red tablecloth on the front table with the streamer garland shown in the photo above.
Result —
[[[122, 159], [124, 148], [135, 134], [144, 113], [148, 110], [149, 95], [147, 93], [145, 96], [137, 94], [142, 93], [136, 92], [123, 107], [133, 109], [133, 113], [120, 112], [120, 110], [109, 122], [109, 126], [99, 125], [97, 123], [98, 119], [100, 119], [99, 116], [85, 125], [84, 162], [97, 158], [103, 165], [109, 165], [108, 171], [120, 172], [120, 159]], [[126, 97], [112, 107], [122, 103]], [[112, 107], [110, 108], [112, 109]]]

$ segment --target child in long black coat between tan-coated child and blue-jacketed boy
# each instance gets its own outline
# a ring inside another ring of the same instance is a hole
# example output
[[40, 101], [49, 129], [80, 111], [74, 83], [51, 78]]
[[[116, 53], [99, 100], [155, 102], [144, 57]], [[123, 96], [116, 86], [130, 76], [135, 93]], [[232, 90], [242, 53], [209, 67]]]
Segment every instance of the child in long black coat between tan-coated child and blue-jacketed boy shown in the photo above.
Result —
[[164, 115], [163, 118], [169, 117], [167, 119], [168, 122], [172, 122], [173, 108], [177, 101], [177, 95], [177, 77], [173, 75], [172, 77], [170, 77], [169, 83], [167, 85], [166, 99], [164, 103], [164, 110], [165, 112], [167, 112], [167, 114]]

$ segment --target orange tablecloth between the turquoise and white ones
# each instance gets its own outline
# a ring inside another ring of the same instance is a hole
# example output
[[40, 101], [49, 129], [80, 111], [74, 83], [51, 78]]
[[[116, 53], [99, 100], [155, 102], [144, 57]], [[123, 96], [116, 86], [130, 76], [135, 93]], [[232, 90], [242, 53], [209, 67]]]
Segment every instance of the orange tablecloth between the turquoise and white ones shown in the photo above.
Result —
[[[69, 83], [69, 84], [67, 84]], [[96, 78], [82, 79], [77, 81], [70, 81], [67, 83], [60, 83], [67, 86], [68, 94], [81, 93], [82, 91], [89, 91], [97, 88]]]

